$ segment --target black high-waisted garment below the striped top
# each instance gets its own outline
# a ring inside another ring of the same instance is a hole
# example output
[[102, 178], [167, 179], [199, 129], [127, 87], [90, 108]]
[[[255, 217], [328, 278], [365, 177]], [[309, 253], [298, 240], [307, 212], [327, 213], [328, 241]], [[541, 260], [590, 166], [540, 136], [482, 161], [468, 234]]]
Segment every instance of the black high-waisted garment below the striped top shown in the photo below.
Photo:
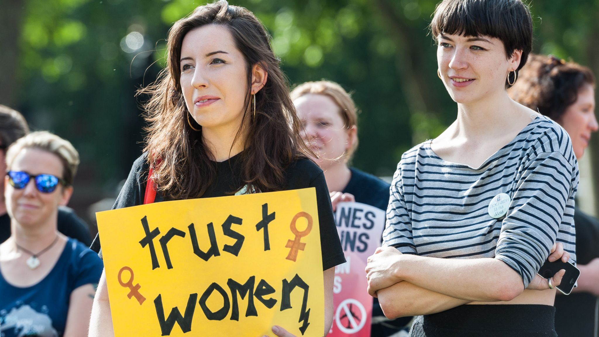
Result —
[[411, 337], [556, 337], [549, 305], [461, 305], [416, 318]]

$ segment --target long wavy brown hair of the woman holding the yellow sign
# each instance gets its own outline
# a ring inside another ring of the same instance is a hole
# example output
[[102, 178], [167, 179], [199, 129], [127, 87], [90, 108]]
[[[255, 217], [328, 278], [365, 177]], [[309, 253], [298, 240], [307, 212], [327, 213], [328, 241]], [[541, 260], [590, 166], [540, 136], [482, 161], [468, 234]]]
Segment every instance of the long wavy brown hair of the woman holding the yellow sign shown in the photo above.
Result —
[[[279, 68], [279, 59], [270, 46], [270, 35], [256, 16], [243, 7], [225, 0], [197, 7], [189, 16], [174, 23], [167, 39], [167, 67], [152, 85], [138, 94], [149, 94], [146, 110], [146, 146], [153, 167], [156, 189], [167, 198], [200, 197], [216, 178], [213, 156], [202, 141], [202, 131], [187, 123], [187, 107], [181, 92], [179, 59], [187, 32], [204, 25], [226, 26], [246, 62], [244, 122], [234, 142], [243, 142], [242, 182], [262, 192], [277, 191], [285, 185], [286, 167], [311, 153], [302, 142], [301, 123], [289, 98], [288, 83]], [[250, 111], [251, 70], [259, 64], [268, 73], [264, 87], [255, 95], [256, 117]], [[243, 83], [240, 83], [242, 85]], [[246, 120], [247, 119], [247, 120]], [[195, 123], [193, 119], [190, 119]], [[231, 186], [232, 192], [241, 186]]]

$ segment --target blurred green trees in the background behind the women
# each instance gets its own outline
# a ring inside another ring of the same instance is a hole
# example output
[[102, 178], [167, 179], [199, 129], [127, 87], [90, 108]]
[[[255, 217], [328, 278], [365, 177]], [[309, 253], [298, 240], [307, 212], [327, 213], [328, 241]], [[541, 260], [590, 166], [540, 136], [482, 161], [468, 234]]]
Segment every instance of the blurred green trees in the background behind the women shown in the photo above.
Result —
[[[33, 130], [75, 145], [81, 166], [71, 206], [90, 223], [87, 207], [114, 197], [141, 154], [144, 121], [135, 90], [164, 66], [168, 28], [204, 3], [0, 1], [0, 104], [23, 112]], [[455, 119], [426, 29], [437, 0], [230, 3], [267, 26], [290, 83], [329, 79], [353, 92], [361, 109], [353, 160], [359, 169], [390, 176], [404, 151]], [[599, 0], [530, 4], [534, 52], [571, 58], [599, 74]], [[590, 177], [599, 169], [599, 155], [591, 158], [598, 139], [585, 156], [583, 195], [599, 190]], [[599, 204], [591, 200], [585, 197], [585, 208], [594, 213]]]

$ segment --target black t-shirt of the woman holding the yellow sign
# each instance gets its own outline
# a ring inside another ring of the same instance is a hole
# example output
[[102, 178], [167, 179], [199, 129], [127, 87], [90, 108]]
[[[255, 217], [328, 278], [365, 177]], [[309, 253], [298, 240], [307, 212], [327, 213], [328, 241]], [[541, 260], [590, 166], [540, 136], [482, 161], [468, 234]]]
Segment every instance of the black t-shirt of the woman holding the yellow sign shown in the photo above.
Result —
[[[214, 165], [216, 166], [216, 180], [202, 195], [202, 198], [231, 195], [232, 192], [238, 191], [243, 186], [243, 182], [239, 178], [240, 174], [238, 174], [241, 170], [241, 154], [220, 163], [214, 162]], [[143, 154], [133, 163], [129, 177], [127, 177], [113, 209], [143, 204], [148, 170], [147, 155]], [[335, 227], [331, 198], [329, 197], [328, 188], [326, 188], [324, 173], [313, 161], [301, 159], [287, 167], [285, 174], [287, 183], [283, 190], [316, 188], [323, 270], [344, 263], [345, 256], [341, 249], [337, 227]], [[165, 200], [162, 195], [156, 194], [155, 202]], [[90, 248], [102, 257], [99, 236], [96, 235]]]

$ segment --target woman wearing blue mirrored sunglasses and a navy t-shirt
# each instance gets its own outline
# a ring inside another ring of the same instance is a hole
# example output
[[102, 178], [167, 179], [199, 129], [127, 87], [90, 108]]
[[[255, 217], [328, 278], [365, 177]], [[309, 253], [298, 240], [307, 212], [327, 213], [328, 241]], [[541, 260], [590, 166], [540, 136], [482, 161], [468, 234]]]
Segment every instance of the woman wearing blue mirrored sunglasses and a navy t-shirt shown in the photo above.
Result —
[[0, 244], [0, 335], [80, 337], [87, 333], [102, 261], [58, 231], [79, 155], [45, 131], [8, 148], [5, 200], [11, 236]]

